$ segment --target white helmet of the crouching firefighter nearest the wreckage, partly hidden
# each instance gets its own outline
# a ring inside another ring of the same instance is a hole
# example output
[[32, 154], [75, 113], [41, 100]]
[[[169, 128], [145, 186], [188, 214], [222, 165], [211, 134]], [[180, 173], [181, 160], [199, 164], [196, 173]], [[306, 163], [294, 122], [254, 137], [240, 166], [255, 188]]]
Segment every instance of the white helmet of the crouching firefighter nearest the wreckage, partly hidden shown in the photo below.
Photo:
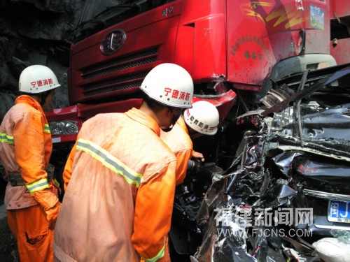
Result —
[[193, 108], [183, 112], [186, 124], [199, 133], [214, 136], [219, 124], [219, 113], [216, 106], [208, 101], [197, 101], [192, 105]]

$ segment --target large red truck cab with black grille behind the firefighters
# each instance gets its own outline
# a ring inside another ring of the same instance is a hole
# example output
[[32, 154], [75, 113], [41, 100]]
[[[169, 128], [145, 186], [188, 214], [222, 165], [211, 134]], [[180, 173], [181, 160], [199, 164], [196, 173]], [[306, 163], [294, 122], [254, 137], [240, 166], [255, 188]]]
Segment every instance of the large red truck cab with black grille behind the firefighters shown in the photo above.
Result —
[[274, 81], [336, 64], [329, 21], [325, 0], [87, 0], [71, 44], [70, 106], [46, 114], [52, 141], [74, 142], [99, 112], [139, 107], [142, 80], [165, 62], [186, 68], [221, 120], [237, 98], [254, 108]]

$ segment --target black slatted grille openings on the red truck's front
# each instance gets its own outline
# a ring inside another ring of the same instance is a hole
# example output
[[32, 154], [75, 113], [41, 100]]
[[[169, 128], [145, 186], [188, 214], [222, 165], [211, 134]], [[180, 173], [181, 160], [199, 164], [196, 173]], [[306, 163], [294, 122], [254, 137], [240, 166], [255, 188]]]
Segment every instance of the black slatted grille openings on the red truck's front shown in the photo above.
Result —
[[[81, 76], [84, 80], [92, 80], [109, 73], [115, 73], [125, 69], [135, 68], [137, 66], [144, 66], [157, 61], [157, 55], [158, 49], [132, 54], [128, 57], [122, 57], [103, 64], [85, 68], [83, 69]], [[140, 87], [142, 80], [144, 80], [147, 73], [148, 72], [134, 73], [131, 75], [123, 75], [119, 78], [109, 78], [108, 80], [104, 81], [92, 82], [90, 84], [83, 85], [83, 93], [85, 94], [85, 97], [87, 97]]]

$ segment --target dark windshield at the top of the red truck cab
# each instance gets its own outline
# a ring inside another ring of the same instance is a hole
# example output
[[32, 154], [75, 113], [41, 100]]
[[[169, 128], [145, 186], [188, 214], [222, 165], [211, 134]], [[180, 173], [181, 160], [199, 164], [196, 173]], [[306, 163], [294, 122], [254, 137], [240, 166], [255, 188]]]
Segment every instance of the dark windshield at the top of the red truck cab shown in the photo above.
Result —
[[73, 43], [172, 1], [174, 0], [87, 0], [74, 30]]

